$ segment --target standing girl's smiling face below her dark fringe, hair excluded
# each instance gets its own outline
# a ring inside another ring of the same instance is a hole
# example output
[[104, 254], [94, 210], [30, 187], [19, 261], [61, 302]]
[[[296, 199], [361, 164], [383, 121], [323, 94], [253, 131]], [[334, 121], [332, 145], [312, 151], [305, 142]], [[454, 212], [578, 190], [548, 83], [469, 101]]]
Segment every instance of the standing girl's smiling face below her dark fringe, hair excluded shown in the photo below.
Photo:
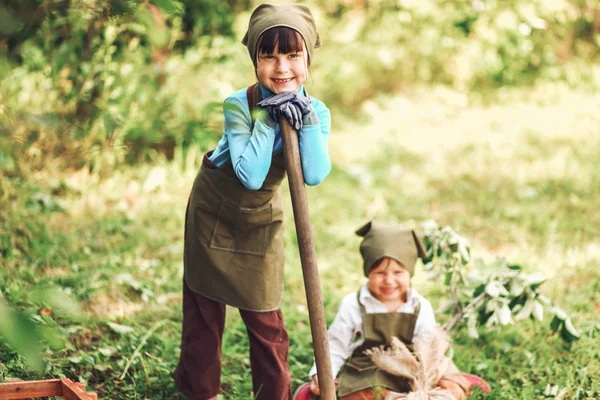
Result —
[[298, 91], [306, 81], [308, 70], [306, 52], [281, 54], [275, 46], [272, 54], [260, 53], [256, 63], [258, 81], [271, 92]]

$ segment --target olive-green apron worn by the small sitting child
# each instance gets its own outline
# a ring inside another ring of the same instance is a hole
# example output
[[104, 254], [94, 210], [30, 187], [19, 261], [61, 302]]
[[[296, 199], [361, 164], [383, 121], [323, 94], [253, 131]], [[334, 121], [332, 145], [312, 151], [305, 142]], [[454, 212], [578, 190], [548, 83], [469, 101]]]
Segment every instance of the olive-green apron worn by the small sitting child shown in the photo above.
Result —
[[394, 392], [409, 392], [410, 386], [406, 378], [391, 375], [379, 368], [364, 354], [373, 347], [389, 347], [392, 336], [396, 336], [406, 345], [412, 347], [417, 317], [421, 310], [418, 304], [414, 313], [371, 313], [367, 314], [365, 306], [360, 302], [360, 290], [357, 294], [360, 313], [363, 320], [364, 343], [357, 347], [344, 365], [340, 374], [339, 396], [360, 390], [384, 387]]

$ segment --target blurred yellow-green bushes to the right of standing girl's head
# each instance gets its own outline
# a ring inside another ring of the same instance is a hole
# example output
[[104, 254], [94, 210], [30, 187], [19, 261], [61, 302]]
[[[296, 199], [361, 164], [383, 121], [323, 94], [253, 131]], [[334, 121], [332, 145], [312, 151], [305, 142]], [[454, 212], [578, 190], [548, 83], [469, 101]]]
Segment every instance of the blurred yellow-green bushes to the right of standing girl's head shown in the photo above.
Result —
[[467, 92], [538, 80], [600, 85], [597, 69], [577, 62], [600, 54], [591, 1], [343, 1], [326, 11], [335, 45], [319, 72], [333, 83], [330, 102], [356, 107], [414, 82]]

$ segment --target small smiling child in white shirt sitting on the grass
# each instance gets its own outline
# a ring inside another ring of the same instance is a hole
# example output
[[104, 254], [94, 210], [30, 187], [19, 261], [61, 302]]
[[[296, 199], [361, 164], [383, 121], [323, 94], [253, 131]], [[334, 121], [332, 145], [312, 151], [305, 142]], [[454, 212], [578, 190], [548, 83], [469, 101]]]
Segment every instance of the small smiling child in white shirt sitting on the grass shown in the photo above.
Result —
[[[335, 380], [340, 399], [383, 399], [390, 391], [410, 391], [408, 381], [377, 368], [365, 350], [390, 346], [393, 336], [410, 345], [416, 337], [435, 335], [431, 303], [410, 284], [417, 258], [425, 253], [410, 229], [373, 221], [356, 233], [364, 237], [360, 252], [368, 281], [344, 297], [329, 328], [331, 364], [334, 376], [341, 370]], [[470, 383], [455, 372], [438, 385], [462, 400]], [[310, 384], [301, 386], [295, 399], [319, 396], [316, 365], [309, 375]]]

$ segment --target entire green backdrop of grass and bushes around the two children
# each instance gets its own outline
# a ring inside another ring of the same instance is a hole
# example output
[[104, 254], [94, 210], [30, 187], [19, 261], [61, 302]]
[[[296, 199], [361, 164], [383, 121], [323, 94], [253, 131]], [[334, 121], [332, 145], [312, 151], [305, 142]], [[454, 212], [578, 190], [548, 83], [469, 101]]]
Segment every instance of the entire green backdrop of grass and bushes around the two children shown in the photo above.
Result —
[[[0, 4], [0, 380], [177, 398], [185, 202], [223, 99], [255, 79], [240, 40], [259, 3]], [[324, 43], [310, 93], [334, 124], [333, 171], [308, 191], [327, 320], [362, 280], [357, 226], [434, 218], [475, 256], [548, 276], [582, 333], [458, 327], [456, 362], [486, 398], [600, 397], [600, 2], [303, 3]], [[284, 196], [296, 387], [312, 350]], [[415, 285], [442, 305], [421, 271]], [[235, 312], [228, 326], [223, 398], [251, 398]]]

